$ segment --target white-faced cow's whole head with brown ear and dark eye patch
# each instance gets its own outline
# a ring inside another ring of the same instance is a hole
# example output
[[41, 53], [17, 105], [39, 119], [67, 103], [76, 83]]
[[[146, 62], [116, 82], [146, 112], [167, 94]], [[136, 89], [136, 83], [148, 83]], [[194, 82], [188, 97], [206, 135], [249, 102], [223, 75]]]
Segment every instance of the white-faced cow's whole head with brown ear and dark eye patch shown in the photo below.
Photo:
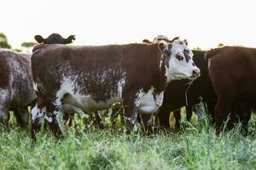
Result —
[[200, 70], [193, 61], [193, 53], [188, 48], [188, 42], [178, 37], [173, 40], [160, 40], [158, 48], [166, 56], [167, 81], [200, 76]]

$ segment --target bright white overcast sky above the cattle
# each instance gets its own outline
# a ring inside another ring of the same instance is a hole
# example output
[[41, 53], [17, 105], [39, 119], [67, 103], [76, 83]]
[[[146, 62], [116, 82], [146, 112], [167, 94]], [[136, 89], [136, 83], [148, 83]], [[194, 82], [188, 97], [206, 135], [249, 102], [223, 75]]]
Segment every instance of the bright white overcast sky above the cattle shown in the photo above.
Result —
[[9, 43], [36, 34], [76, 35], [74, 44], [110, 44], [183, 37], [190, 48], [256, 48], [254, 0], [1, 0], [0, 32]]

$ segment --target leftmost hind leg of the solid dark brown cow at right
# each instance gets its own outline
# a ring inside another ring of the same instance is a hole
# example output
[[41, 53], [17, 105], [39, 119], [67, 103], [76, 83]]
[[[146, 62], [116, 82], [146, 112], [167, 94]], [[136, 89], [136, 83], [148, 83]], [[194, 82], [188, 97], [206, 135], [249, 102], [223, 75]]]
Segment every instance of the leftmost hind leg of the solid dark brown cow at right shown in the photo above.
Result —
[[215, 106], [215, 127], [217, 134], [221, 132], [223, 123], [227, 119], [230, 112], [231, 117], [232, 114], [234, 114], [231, 111], [232, 103], [233, 99], [229, 97], [228, 94], [218, 96], [218, 102]]

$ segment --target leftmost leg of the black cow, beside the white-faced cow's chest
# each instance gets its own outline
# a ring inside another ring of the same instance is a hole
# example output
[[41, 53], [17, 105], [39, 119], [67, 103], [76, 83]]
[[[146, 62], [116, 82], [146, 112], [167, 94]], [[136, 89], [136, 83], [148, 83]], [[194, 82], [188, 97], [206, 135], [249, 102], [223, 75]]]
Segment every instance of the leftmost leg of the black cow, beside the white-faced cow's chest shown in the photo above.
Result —
[[159, 118], [160, 127], [170, 129], [170, 112], [171, 111], [165, 105], [162, 105], [160, 107], [160, 111], [157, 114]]

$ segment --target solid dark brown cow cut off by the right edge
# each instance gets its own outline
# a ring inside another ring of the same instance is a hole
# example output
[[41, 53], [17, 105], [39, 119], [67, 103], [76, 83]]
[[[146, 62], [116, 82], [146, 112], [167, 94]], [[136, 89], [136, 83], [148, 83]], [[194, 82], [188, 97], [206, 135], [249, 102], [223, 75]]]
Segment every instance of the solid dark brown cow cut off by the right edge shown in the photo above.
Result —
[[[256, 109], [256, 48], [224, 47], [208, 51], [208, 70], [213, 88], [218, 95], [215, 106], [217, 133], [222, 129], [224, 120], [231, 114], [228, 127], [236, 120], [236, 103]], [[238, 115], [247, 128], [250, 112], [241, 105]], [[239, 111], [238, 110], [238, 111]]]

